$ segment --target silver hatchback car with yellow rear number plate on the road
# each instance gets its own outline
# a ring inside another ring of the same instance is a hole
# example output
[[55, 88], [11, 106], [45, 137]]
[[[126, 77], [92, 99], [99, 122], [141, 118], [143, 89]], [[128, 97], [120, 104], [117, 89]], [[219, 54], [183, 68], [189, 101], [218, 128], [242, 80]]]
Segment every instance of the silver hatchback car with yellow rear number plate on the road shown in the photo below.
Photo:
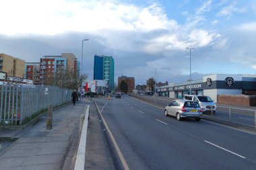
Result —
[[199, 121], [202, 118], [202, 110], [197, 101], [177, 99], [171, 101], [164, 109], [165, 116], [174, 116], [177, 120], [182, 118], [195, 118]]

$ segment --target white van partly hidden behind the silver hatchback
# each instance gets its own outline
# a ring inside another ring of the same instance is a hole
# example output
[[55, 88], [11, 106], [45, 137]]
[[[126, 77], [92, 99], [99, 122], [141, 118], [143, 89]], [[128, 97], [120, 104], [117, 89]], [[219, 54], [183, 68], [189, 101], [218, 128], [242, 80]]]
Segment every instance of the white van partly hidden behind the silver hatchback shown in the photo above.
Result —
[[206, 95], [184, 95], [184, 99], [198, 101], [203, 112], [216, 112], [216, 104]]

